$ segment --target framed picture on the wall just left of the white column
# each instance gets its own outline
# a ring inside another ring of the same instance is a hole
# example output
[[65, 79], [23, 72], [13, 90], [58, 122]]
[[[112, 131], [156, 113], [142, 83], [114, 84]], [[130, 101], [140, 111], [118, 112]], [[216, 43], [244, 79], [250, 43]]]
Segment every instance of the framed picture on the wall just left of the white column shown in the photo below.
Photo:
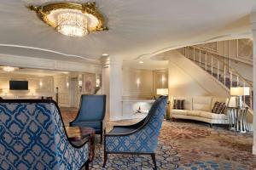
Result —
[[96, 88], [96, 74], [85, 73], [84, 74], [84, 92], [85, 94], [94, 94]]

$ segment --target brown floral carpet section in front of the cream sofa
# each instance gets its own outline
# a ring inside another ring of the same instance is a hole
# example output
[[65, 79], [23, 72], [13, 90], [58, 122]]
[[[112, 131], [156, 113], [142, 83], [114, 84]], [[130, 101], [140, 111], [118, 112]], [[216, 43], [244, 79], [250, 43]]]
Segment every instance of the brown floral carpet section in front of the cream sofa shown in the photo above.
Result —
[[160, 140], [177, 150], [182, 169], [256, 169], [253, 134], [202, 122], [164, 122]]

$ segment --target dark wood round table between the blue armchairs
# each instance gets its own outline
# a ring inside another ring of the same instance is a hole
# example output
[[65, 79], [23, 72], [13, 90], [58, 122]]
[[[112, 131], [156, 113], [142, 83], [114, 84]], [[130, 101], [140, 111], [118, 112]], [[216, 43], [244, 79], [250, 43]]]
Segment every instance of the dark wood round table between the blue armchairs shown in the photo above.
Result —
[[95, 156], [95, 130], [91, 127], [66, 127], [66, 131], [68, 139], [77, 146], [89, 140], [89, 161], [93, 161]]

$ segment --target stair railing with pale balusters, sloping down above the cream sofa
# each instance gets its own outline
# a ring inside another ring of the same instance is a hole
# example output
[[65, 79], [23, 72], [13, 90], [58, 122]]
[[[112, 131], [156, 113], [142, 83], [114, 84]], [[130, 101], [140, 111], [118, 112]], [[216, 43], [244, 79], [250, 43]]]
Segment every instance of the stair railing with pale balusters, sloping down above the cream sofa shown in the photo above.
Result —
[[249, 87], [250, 95], [243, 96], [243, 102], [253, 109], [253, 82], [248, 81], [238, 71], [227, 65], [223, 56], [212, 54], [198, 46], [179, 48], [178, 51], [222, 82], [226, 88]]

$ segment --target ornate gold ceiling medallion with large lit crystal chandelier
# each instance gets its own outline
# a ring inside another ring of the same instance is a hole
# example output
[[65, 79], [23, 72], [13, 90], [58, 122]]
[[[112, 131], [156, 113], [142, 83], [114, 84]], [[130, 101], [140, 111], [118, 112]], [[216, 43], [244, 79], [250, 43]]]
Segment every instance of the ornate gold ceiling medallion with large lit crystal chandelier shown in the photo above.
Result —
[[96, 3], [50, 3], [44, 6], [29, 6], [49, 26], [61, 34], [84, 37], [91, 31], [108, 30]]

